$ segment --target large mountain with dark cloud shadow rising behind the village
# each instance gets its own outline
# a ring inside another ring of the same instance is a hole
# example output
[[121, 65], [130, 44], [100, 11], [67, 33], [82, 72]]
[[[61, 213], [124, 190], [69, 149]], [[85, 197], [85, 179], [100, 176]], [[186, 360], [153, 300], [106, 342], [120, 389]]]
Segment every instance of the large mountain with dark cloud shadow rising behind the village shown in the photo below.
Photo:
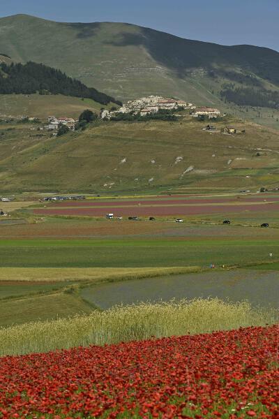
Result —
[[164, 94], [237, 116], [244, 111], [279, 128], [279, 53], [268, 48], [191, 41], [133, 24], [29, 15], [1, 18], [0, 33], [0, 54], [59, 68], [121, 101]]

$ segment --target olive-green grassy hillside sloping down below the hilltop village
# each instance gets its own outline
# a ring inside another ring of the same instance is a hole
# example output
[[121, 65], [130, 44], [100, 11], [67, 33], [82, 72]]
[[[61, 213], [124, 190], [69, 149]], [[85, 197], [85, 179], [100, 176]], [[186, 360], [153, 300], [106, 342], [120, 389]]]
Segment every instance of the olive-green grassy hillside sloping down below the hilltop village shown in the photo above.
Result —
[[[229, 119], [206, 123], [97, 122], [51, 138], [33, 125], [0, 125], [1, 191], [239, 191], [279, 184], [278, 133]], [[41, 135], [40, 137], [36, 135]], [[258, 155], [257, 155], [258, 154]]]

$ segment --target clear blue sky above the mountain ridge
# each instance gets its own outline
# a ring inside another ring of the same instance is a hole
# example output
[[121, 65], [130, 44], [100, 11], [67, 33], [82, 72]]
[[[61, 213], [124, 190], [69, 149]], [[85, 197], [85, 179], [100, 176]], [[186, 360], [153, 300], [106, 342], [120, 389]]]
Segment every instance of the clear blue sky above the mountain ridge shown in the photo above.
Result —
[[183, 38], [279, 51], [279, 0], [0, 0], [0, 17], [128, 22]]

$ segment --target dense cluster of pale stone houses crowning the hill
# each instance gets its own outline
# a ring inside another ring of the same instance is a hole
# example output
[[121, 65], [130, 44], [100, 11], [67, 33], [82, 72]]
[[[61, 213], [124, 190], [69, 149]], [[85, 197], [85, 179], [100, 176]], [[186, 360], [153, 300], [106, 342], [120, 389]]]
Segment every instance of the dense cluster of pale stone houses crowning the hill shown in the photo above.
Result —
[[100, 112], [101, 119], [110, 119], [117, 113], [130, 113], [137, 112], [142, 117], [146, 115], [151, 115], [159, 112], [160, 110], [179, 110], [180, 108], [195, 110], [195, 105], [193, 103], [188, 103], [186, 101], [179, 101], [174, 98], [164, 98], [163, 96], [147, 96], [140, 99], [135, 99], [133, 101], [128, 101], [121, 108], [109, 111], [102, 110]]

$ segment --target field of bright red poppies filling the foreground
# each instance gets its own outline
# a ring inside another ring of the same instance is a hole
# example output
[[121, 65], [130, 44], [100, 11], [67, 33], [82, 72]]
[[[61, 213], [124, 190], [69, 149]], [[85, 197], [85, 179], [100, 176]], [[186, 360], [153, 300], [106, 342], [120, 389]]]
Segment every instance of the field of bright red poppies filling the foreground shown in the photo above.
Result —
[[278, 325], [0, 358], [0, 418], [279, 418]]

